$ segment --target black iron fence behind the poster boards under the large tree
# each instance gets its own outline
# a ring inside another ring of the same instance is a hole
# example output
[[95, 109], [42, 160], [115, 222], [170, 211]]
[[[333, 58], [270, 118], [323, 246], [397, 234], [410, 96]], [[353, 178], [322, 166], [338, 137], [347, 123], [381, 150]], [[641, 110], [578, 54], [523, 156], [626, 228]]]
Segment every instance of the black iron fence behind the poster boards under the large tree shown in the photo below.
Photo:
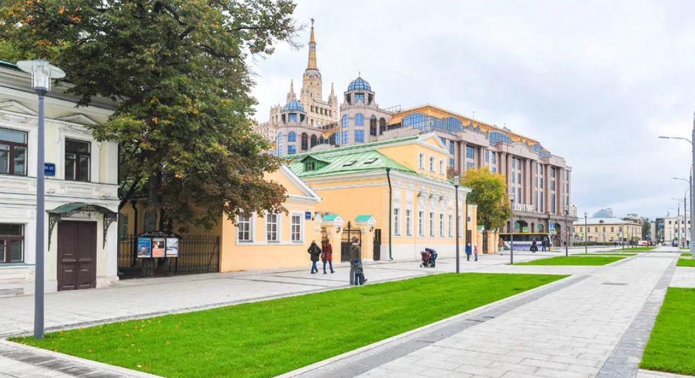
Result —
[[178, 257], [138, 258], [137, 247], [138, 236], [120, 236], [118, 243], [120, 279], [220, 271], [220, 238], [218, 236], [181, 237]]

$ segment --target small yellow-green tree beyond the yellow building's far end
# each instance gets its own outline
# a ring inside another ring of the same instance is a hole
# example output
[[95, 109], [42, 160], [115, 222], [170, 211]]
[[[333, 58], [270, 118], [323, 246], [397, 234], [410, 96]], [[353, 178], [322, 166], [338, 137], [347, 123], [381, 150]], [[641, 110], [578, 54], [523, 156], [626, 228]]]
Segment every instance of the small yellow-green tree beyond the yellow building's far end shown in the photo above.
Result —
[[482, 224], [486, 230], [499, 229], [506, 224], [512, 211], [505, 176], [493, 174], [487, 167], [468, 169], [461, 183], [473, 189], [468, 195], [468, 203], [477, 205], [478, 224]]

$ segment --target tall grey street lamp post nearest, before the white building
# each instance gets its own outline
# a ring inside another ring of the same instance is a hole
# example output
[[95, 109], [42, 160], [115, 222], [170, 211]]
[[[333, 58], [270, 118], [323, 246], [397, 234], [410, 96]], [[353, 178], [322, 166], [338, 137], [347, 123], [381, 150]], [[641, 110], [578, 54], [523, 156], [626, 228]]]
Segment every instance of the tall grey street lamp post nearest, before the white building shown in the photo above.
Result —
[[38, 151], [36, 158], [36, 275], [34, 281], [34, 338], [38, 340], [44, 336], [44, 213], [46, 213], [44, 97], [51, 92], [51, 79], [63, 78], [65, 77], [65, 72], [51, 65], [47, 60], [42, 59], [21, 60], [17, 62], [17, 67], [31, 74], [31, 87], [39, 97]]

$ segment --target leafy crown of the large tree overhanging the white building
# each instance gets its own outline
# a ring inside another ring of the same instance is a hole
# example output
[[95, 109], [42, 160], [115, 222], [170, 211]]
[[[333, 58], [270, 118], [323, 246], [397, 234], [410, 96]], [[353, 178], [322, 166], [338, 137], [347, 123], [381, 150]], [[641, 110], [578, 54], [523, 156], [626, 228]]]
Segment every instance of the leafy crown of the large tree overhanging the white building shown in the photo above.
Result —
[[[156, 214], [211, 227], [223, 213], [284, 211], [284, 188], [263, 179], [278, 158], [252, 132], [251, 56], [293, 44], [288, 0], [16, 0], [0, 2], [0, 56], [45, 58], [67, 92], [118, 101], [99, 140], [121, 145], [123, 197]], [[124, 204], [124, 202], [122, 202]]]

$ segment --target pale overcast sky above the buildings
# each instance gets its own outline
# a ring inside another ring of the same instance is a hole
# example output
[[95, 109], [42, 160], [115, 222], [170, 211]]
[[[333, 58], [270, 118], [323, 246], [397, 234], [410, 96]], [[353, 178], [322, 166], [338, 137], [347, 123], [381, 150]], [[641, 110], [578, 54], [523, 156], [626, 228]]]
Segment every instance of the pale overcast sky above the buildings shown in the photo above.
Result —
[[[572, 167], [580, 214], [674, 213], [691, 164], [695, 2], [299, 0], [324, 96], [357, 77], [379, 106], [433, 104], [541, 142]], [[256, 63], [256, 117], [301, 88], [304, 48]], [[682, 207], [682, 204], [680, 205]]]

